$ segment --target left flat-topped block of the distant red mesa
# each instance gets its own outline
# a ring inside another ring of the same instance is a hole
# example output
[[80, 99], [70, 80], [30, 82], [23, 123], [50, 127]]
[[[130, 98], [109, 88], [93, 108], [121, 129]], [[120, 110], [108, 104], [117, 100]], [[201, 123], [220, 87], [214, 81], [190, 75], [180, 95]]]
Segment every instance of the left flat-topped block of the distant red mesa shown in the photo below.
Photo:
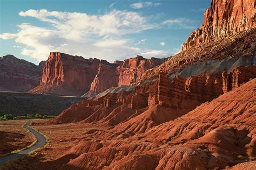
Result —
[[40, 86], [30, 92], [82, 95], [90, 89], [100, 62], [98, 59], [51, 52], [43, 70]]

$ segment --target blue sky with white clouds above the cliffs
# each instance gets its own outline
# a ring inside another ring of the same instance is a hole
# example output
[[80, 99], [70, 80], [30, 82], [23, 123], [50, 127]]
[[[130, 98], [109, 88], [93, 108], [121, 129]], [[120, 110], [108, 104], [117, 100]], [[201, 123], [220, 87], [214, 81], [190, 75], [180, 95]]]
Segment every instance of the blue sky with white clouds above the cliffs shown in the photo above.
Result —
[[177, 54], [211, 0], [0, 0], [0, 56], [50, 52], [109, 62]]

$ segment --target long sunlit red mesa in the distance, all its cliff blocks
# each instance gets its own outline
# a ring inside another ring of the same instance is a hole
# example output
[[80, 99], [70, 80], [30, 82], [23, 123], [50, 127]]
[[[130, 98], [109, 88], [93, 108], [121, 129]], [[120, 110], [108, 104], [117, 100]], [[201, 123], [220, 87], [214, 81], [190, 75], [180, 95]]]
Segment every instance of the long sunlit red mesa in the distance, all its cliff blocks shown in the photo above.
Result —
[[137, 56], [109, 63], [105, 60], [51, 52], [43, 69], [40, 85], [29, 92], [92, 97], [111, 87], [130, 85], [147, 69], [164, 61]]

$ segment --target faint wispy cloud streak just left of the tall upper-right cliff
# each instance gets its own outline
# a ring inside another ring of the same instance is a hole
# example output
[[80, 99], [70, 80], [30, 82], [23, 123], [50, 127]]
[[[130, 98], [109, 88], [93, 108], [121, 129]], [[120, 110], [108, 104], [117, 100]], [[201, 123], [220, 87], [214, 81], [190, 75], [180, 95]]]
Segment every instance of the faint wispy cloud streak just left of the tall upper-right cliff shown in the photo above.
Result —
[[196, 29], [196, 26], [192, 25], [194, 21], [187, 18], [167, 19], [162, 24], [176, 29]]

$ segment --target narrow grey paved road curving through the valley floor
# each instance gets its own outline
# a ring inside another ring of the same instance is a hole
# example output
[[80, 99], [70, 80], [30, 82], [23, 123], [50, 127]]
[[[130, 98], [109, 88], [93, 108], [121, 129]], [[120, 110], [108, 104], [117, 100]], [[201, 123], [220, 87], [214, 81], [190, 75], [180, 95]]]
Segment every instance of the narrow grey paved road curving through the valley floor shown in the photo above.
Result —
[[30, 148], [27, 148], [26, 150], [23, 150], [21, 152], [18, 152], [18, 153], [11, 154], [11, 155], [8, 155], [6, 157], [0, 158], [0, 164], [4, 164], [5, 162], [7, 162], [11, 159], [22, 157], [22, 156], [28, 154], [29, 152], [31, 152], [33, 150], [36, 150], [39, 147], [44, 146], [44, 144], [46, 142], [45, 137], [41, 133], [37, 132], [35, 129], [32, 129], [32, 128], [29, 127], [31, 122], [32, 121], [26, 122], [26, 124], [24, 125], [24, 128], [28, 129], [31, 133], [33, 133], [35, 135], [35, 137], [37, 138], [37, 143], [35, 145], [31, 146]]

